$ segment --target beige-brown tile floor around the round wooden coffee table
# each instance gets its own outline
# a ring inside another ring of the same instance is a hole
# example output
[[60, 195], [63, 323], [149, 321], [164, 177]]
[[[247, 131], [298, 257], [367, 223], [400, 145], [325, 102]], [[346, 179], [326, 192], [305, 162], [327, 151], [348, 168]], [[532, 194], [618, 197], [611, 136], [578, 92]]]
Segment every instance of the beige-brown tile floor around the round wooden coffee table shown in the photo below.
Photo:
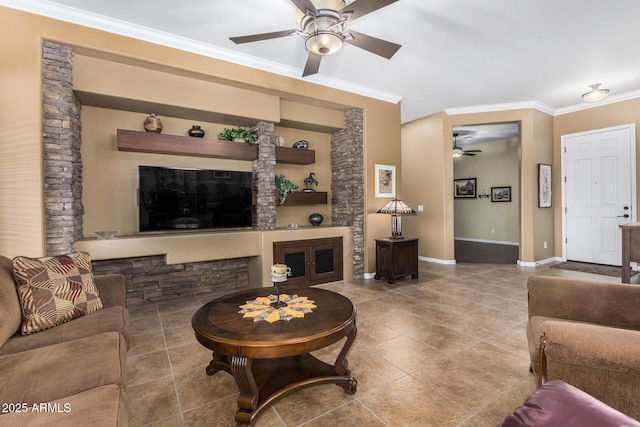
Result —
[[[620, 280], [549, 266], [421, 262], [417, 280], [322, 285], [357, 307], [358, 336], [348, 359], [358, 390], [302, 390], [266, 408], [254, 425], [495, 425], [535, 390], [524, 329], [529, 275]], [[130, 307], [131, 426], [235, 424], [238, 389], [225, 372], [206, 375], [211, 353], [190, 325], [211, 298]], [[337, 346], [318, 357], [332, 361]]]

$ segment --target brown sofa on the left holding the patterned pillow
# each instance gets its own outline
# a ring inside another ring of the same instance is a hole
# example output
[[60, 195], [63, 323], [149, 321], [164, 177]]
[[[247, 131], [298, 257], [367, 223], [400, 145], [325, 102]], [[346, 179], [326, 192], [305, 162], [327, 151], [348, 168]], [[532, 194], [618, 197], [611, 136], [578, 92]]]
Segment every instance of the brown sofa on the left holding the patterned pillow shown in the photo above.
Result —
[[0, 256], [0, 426], [127, 425], [124, 278], [94, 280], [104, 308], [23, 336], [12, 263]]

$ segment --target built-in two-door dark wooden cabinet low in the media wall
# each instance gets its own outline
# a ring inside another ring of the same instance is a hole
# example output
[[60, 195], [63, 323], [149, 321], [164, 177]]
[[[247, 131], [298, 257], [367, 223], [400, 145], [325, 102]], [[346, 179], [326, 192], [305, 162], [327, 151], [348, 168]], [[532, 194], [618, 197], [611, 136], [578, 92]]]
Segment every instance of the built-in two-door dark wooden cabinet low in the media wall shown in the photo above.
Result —
[[342, 280], [342, 237], [275, 242], [273, 262], [291, 267], [285, 285]]

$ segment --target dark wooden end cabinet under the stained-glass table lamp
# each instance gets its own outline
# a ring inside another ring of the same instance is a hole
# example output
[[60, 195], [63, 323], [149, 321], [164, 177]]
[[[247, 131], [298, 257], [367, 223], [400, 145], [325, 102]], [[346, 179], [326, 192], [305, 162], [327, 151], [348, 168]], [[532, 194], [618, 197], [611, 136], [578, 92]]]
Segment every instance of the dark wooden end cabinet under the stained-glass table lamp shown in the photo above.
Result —
[[407, 275], [418, 278], [418, 239], [376, 239], [375, 279], [386, 277], [393, 283]]

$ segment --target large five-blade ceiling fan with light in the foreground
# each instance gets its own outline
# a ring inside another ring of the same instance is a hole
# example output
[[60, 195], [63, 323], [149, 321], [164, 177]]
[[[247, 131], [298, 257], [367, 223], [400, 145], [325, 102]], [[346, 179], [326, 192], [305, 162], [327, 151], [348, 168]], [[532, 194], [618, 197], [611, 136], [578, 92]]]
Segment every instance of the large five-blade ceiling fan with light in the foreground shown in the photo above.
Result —
[[348, 26], [351, 21], [396, 1], [398, 0], [355, 0], [347, 5], [344, 0], [291, 0], [298, 8], [296, 10], [298, 28], [229, 39], [236, 44], [242, 44], [294, 34], [304, 36], [309, 55], [302, 73], [303, 77], [316, 74], [320, 69], [322, 57], [336, 53], [344, 43], [390, 59], [400, 49], [399, 44], [350, 30]]

